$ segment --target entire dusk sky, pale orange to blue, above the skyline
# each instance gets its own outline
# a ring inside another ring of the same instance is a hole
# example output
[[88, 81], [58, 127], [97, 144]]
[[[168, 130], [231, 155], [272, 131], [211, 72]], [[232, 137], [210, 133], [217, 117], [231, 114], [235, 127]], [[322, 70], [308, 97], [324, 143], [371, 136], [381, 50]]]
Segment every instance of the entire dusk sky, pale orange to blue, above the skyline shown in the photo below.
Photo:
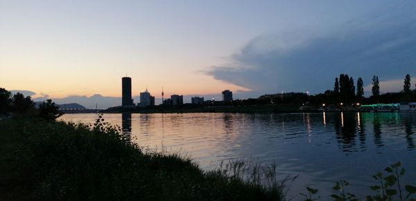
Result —
[[[183, 94], [322, 93], [340, 73], [416, 84], [416, 1], [0, 0], [0, 87], [33, 98], [121, 102]], [[106, 100], [104, 100], [107, 98]], [[105, 102], [105, 104], [104, 104]], [[186, 101], [185, 101], [186, 102]]]

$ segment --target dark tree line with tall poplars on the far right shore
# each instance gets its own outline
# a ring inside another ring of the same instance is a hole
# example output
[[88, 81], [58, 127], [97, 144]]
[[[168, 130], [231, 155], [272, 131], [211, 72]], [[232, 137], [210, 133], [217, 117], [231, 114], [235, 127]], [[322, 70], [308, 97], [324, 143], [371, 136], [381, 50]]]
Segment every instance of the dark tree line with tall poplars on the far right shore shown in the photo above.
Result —
[[329, 105], [351, 105], [351, 104], [376, 104], [376, 103], [401, 103], [416, 102], [416, 85], [412, 89], [410, 75], [404, 78], [403, 90], [399, 93], [381, 94], [379, 77], [372, 77], [372, 88], [370, 97], [365, 97], [364, 80], [358, 77], [356, 82], [348, 74], [340, 74], [335, 78], [333, 90], [326, 90], [324, 93], [307, 95], [306, 93], [281, 93], [275, 95], [262, 95], [259, 99], [248, 99], [241, 104], [305, 104], [312, 106]]

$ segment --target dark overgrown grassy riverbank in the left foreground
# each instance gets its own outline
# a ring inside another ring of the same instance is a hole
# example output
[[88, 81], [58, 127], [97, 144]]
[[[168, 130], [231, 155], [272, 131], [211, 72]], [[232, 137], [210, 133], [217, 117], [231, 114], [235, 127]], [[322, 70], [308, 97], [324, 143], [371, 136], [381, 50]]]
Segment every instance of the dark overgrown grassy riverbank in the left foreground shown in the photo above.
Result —
[[0, 131], [0, 200], [284, 200], [276, 180], [262, 185], [259, 175], [243, 180], [241, 166], [202, 171], [189, 158], [146, 152], [103, 119], [18, 117]]

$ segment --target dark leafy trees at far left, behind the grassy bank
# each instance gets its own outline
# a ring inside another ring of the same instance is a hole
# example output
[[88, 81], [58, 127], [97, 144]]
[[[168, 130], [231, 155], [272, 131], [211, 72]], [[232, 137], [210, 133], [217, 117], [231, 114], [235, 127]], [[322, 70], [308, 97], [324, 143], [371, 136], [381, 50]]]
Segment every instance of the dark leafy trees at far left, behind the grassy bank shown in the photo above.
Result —
[[48, 121], [53, 121], [60, 117], [62, 113], [59, 107], [47, 99], [37, 108], [30, 96], [24, 97], [21, 93], [12, 93], [5, 88], [0, 88], [0, 117], [1, 115], [37, 115]]

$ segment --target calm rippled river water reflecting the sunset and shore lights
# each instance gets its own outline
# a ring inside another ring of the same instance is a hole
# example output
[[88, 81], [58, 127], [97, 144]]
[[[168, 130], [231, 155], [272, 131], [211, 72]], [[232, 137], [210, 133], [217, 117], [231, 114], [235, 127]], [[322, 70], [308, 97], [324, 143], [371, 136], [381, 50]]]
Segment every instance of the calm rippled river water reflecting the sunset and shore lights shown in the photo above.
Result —
[[[92, 123], [95, 114], [69, 114], [64, 121]], [[358, 195], [371, 193], [371, 176], [401, 161], [406, 182], [416, 184], [416, 113], [291, 114], [105, 114], [132, 140], [149, 149], [181, 151], [203, 169], [222, 160], [259, 157], [277, 162], [279, 175], [297, 175], [295, 200], [306, 186], [324, 198], [337, 180]], [[324, 199], [325, 200], [325, 199]]]

